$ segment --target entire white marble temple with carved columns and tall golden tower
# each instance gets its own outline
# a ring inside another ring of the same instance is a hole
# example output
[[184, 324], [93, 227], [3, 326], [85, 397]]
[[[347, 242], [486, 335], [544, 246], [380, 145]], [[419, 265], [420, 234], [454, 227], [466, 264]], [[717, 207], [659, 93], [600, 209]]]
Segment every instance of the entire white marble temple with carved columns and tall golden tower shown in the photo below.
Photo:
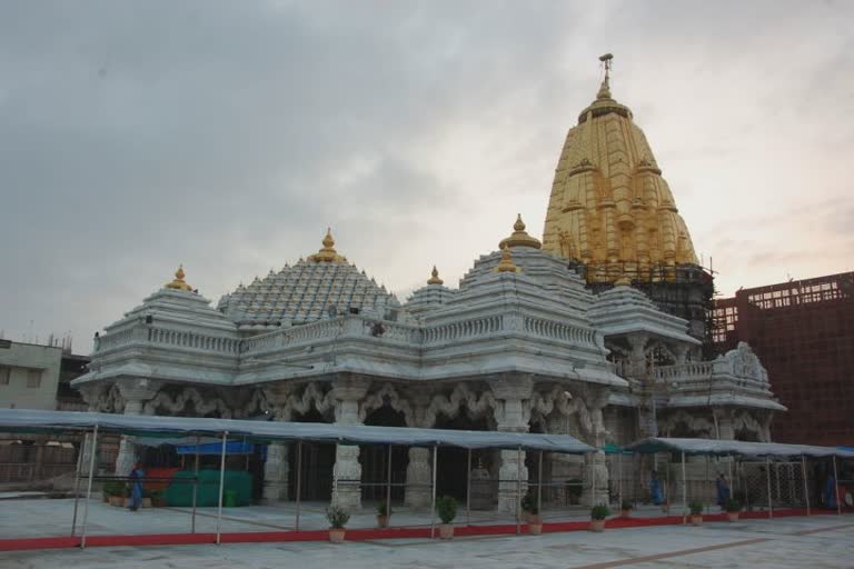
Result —
[[[597, 448], [655, 435], [767, 441], [785, 408], [746, 343], [709, 351], [712, 274], [603, 62], [560, 149], [542, 241], [508, 219], [456, 288], [430, 272], [440, 259], [425, 260], [425, 286], [404, 302], [322, 226], [318, 251], [290, 251], [299, 260], [216, 305], [179, 268], [96, 338], [75, 387], [90, 410], [116, 413], [557, 432]], [[266, 500], [294, 499], [291, 447], [267, 448]], [[304, 498], [328, 500], [335, 486], [356, 508], [384, 496], [370, 482], [385, 477], [385, 449], [304, 450]], [[123, 439], [117, 473], [138, 452]], [[430, 451], [394, 452], [394, 498], [429, 507]], [[439, 451], [443, 493], [465, 497], [460, 452]], [[476, 506], [515, 510], [519, 476], [535, 475], [586, 480], [582, 501], [599, 503], [622, 476], [602, 452], [546, 455], [539, 468], [516, 451], [475, 452], [473, 480], [495, 485]]]

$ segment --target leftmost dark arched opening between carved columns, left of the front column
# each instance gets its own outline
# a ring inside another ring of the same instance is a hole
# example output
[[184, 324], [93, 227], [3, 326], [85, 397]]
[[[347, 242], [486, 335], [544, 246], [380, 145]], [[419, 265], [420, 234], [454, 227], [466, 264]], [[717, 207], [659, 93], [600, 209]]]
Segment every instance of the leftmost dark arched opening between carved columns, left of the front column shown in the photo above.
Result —
[[[316, 409], [296, 415], [295, 422], [329, 422]], [[302, 468], [300, 479], [300, 500], [329, 501], [332, 497], [332, 467], [335, 467], [335, 445], [328, 442], [302, 443]], [[297, 495], [297, 443], [288, 446], [288, 496], [291, 500]]]

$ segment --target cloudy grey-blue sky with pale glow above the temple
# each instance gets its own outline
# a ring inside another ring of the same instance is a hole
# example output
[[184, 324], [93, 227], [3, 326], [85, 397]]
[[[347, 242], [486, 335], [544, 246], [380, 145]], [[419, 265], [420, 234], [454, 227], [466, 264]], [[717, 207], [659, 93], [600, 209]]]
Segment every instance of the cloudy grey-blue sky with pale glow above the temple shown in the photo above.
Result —
[[540, 236], [613, 52], [717, 287], [854, 269], [852, 2], [3, 2], [0, 330], [315, 252], [405, 299]]

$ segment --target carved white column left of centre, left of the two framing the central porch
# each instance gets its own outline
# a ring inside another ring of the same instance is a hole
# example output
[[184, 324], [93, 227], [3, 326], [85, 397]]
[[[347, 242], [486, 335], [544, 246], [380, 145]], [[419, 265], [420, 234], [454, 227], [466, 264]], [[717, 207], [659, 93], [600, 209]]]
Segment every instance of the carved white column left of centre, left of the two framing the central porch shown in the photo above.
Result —
[[[359, 419], [359, 402], [368, 392], [370, 382], [352, 376], [339, 377], [332, 386], [335, 397], [335, 422], [339, 425], [361, 425]], [[347, 510], [361, 508], [361, 465], [359, 465], [359, 447], [338, 445], [335, 449], [335, 468], [337, 495], [332, 500]], [[334, 489], [335, 492], [335, 489]]]

